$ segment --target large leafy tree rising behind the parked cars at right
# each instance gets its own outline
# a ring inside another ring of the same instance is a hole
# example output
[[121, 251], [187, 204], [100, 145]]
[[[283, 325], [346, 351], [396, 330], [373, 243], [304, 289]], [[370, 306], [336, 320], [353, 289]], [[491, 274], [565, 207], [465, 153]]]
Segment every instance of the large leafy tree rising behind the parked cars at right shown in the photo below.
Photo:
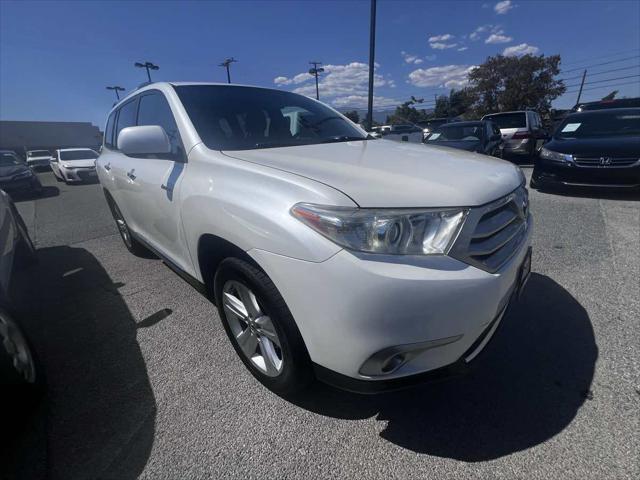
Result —
[[566, 91], [559, 73], [560, 55], [489, 57], [469, 73], [475, 114], [526, 108], [547, 114], [552, 100]]

